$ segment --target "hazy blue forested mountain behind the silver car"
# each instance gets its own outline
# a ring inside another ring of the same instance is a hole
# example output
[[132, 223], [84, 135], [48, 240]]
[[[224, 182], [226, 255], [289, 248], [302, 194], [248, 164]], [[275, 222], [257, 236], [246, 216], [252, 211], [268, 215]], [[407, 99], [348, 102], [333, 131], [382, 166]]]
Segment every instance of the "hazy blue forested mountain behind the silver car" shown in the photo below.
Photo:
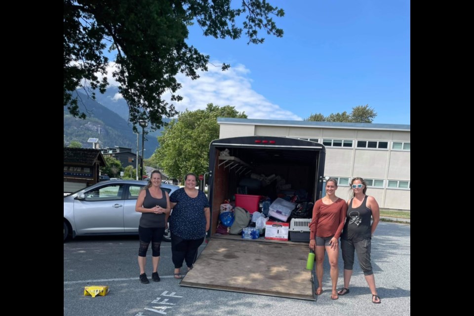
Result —
[[[100, 93], [99, 93], [100, 95]], [[120, 107], [116, 106], [112, 101], [108, 102], [108, 106], [102, 105], [82, 92], [74, 92], [73, 97], [79, 96], [79, 110], [86, 113], [87, 118], [73, 118], [66, 107], [64, 107], [64, 142], [78, 141], [82, 144], [82, 148], [92, 148], [92, 144], [88, 143], [89, 138], [98, 138], [99, 146], [112, 147], [121, 146], [131, 148], [136, 153], [137, 135], [133, 133], [132, 124], [129, 123], [122, 115], [112, 111], [109, 108], [120, 112]], [[107, 101], [107, 98], [101, 98]], [[123, 99], [122, 99], [123, 101]], [[128, 106], [123, 101], [128, 112]], [[121, 111], [123, 112], [123, 111]], [[128, 114], [127, 114], [128, 118]], [[139, 128], [141, 132], [141, 128]], [[159, 147], [157, 136], [162, 129], [145, 135], [145, 158], [150, 158], [157, 147]], [[140, 151], [142, 148], [142, 135], [139, 135]]]

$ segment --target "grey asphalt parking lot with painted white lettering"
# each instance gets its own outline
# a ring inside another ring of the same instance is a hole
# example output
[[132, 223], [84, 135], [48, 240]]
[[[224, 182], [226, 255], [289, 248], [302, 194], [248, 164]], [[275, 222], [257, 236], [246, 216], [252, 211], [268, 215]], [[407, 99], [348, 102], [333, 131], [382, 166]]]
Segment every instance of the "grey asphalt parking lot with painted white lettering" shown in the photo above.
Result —
[[[81, 237], [64, 243], [64, 316], [399, 316], [410, 315], [410, 226], [381, 222], [372, 239], [372, 265], [381, 304], [371, 294], [356, 264], [350, 293], [331, 300], [329, 265], [324, 262], [322, 295], [316, 301], [180, 286], [173, 278], [170, 243], [161, 243], [158, 273], [150, 284], [138, 280], [138, 237]], [[203, 246], [200, 248], [203, 249]], [[302, 262], [305, 269], [306, 262]], [[343, 287], [339, 256], [338, 288]], [[105, 296], [84, 296], [84, 287], [107, 285]]]

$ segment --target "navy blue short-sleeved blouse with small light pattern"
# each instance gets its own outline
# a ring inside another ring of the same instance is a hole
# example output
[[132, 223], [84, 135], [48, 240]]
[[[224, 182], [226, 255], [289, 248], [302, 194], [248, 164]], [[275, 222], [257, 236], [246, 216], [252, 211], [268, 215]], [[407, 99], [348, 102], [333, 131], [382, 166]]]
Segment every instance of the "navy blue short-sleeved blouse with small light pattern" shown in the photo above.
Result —
[[204, 208], [209, 200], [202, 191], [197, 197], [190, 197], [180, 188], [169, 196], [169, 201], [177, 203], [169, 217], [169, 229], [172, 234], [183, 239], [200, 239], [206, 235], [206, 217]]

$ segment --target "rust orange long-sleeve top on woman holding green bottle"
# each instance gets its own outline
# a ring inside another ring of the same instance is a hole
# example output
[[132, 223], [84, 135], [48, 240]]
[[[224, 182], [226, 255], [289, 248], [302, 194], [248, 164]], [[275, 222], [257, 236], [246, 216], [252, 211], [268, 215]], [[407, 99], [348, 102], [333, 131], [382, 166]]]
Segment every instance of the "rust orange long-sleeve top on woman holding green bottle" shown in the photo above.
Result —
[[322, 198], [313, 207], [313, 219], [310, 223], [310, 239], [317, 237], [341, 236], [346, 221], [347, 204], [342, 198], [326, 205]]

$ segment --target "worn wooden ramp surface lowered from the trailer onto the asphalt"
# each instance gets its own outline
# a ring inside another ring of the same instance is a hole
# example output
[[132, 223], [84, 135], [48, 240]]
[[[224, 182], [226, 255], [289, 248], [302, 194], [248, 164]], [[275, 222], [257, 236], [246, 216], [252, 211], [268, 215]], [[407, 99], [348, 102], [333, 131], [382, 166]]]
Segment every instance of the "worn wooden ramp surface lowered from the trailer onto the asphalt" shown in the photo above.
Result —
[[315, 300], [307, 243], [213, 237], [183, 286]]

